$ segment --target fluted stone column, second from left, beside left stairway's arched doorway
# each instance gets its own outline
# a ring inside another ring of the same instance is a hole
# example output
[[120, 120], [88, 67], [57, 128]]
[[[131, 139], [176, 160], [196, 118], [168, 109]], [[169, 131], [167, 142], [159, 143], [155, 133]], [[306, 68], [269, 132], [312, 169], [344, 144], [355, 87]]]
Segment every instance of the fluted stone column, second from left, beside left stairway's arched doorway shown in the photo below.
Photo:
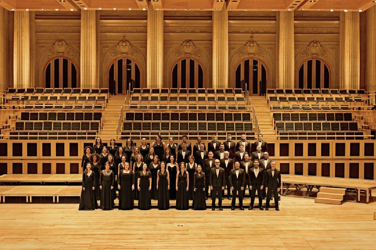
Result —
[[81, 11], [80, 87], [98, 88], [96, 11]]

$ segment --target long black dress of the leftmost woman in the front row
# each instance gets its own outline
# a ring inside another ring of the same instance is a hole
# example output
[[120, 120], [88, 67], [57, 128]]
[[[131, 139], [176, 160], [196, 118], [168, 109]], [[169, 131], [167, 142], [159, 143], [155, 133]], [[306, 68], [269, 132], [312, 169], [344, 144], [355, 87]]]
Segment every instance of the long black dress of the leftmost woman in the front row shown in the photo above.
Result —
[[82, 174], [82, 187], [85, 187], [85, 191], [81, 190], [80, 205], [78, 210], [94, 210], [98, 208], [97, 197], [95, 191], [92, 188], [95, 188], [95, 173], [91, 171], [90, 176], [87, 172]]

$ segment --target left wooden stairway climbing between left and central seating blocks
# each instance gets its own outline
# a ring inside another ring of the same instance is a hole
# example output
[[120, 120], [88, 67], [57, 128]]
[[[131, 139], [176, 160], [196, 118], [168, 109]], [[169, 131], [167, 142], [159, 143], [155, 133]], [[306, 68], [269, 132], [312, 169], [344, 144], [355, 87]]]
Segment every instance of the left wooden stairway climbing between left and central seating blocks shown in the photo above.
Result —
[[109, 141], [111, 138], [116, 139], [116, 127], [120, 116], [120, 107], [124, 104], [126, 96], [109, 96], [106, 110], [104, 112], [104, 122], [100, 130], [102, 141]]

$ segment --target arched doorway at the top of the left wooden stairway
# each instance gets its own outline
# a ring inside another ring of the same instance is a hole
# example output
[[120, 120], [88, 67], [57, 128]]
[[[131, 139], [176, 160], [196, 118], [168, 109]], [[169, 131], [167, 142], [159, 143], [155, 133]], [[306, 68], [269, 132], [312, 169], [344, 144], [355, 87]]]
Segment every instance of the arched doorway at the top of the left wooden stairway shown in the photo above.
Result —
[[141, 87], [141, 73], [135, 60], [120, 57], [111, 62], [108, 68], [108, 88], [110, 93], [125, 95], [131, 84], [134, 88]]

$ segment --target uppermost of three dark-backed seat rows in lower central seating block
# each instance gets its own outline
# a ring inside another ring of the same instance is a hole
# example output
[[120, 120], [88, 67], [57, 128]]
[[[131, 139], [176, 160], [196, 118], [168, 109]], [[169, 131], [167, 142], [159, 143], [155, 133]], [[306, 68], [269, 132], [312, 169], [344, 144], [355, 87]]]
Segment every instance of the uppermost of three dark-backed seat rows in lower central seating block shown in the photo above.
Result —
[[251, 122], [250, 113], [147, 113], [147, 112], [127, 112], [125, 114], [125, 120], [127, 121], [226, 121], [226, 122]]

